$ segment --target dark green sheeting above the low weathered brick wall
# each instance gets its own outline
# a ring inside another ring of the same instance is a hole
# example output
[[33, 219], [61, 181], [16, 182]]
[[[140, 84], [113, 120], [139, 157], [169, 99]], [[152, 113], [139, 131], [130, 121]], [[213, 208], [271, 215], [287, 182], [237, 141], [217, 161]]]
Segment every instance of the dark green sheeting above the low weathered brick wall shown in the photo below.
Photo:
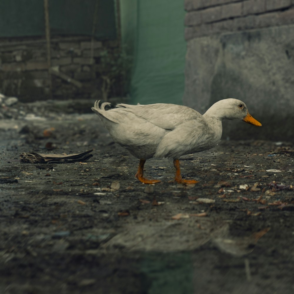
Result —
[[[98, 2], [97, 2], [98, 1]], [[49, 0], [50, 33], [92, 35], [96, 3], [95, 37], [116, 39], [114, 0]], [[0, 37], [44, 36], [43, 0], [0, 0]]]

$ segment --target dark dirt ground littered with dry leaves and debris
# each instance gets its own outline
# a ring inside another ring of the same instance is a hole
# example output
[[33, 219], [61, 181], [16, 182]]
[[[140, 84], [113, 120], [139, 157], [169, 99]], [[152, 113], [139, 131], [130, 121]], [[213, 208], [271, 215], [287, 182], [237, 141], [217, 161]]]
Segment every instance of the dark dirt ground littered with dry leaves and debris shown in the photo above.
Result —
[[[92, 148], [83, 163], [19, 159]], [[94, 113], [2, 119], [0, 150], [0, 293], [294, 293], [292, 143], [184, 156], [191, 186], [169, 159], [140, 183]]]

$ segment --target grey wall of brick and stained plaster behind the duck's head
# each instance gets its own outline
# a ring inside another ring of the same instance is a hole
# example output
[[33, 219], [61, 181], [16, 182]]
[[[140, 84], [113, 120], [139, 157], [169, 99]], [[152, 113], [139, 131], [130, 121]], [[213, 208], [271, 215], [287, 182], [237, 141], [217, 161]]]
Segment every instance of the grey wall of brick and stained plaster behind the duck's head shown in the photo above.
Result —
[[244, 101], [263, 126], [224, 122], [223, 138], [294, 141], [294, 1], [186, 0], [184, 104]]

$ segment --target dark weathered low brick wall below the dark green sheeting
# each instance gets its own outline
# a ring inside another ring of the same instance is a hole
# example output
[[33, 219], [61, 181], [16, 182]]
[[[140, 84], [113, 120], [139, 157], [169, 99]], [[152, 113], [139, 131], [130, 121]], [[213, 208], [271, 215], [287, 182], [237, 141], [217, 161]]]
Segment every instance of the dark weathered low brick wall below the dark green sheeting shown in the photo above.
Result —
[[[23, 102], [101, 98], [100, 54], [117, 49], [117, 41], [95, 41], [91, 58], [89, 37], [51, 39], [51, 91], [45, 39], [1, 39], [0, 93]], [[111, 91], [118, 95], [113, 88]]]

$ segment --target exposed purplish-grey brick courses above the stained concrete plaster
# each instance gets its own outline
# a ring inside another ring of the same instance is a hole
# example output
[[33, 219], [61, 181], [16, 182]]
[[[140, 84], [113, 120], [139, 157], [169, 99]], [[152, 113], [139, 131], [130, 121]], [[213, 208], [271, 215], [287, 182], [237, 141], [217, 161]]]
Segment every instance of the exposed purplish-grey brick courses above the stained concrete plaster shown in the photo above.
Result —
[[185, 38], [294, 24], [294, 0], [185, 0]]

